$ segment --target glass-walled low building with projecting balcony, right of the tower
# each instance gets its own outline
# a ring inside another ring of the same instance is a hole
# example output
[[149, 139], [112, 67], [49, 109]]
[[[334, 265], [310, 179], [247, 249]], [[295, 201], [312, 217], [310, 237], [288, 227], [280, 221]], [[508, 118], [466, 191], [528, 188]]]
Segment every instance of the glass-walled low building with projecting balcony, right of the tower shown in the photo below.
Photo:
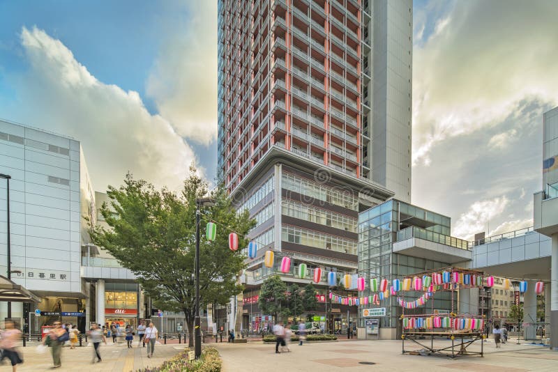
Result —
[[[364, 296], [370, 292], [370, 278], [402, 279], [416, 272], [435, 270], [470, 259], [468, 242], [454, 238], [450, 217], [396, 199], [386, 201], [359, 214], [359, 276], [366, 278]], [[416, 300], [423, 293], [405, 293]], [[395, 296], [380, 305], [359, 306], [359, 327], [365, 327], [362, 309], [385, 307], [379, 318], [380, 337], [400, 335], [398, 319], [402, 313]], [[430, 313], [451, 310], [451, 294], [438, 292], [424, 307], [405, 309], [405, 313]]]

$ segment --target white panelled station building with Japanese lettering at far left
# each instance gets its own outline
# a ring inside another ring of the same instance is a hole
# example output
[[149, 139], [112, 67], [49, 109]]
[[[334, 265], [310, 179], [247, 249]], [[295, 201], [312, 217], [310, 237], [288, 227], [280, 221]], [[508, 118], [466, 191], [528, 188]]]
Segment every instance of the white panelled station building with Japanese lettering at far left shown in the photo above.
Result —
[[[0, 121], [0, 173], [10, 179], [12, 279], [42, 298], [37, 306], [13, 303], [12, 317], [31, 330], [61, 317], [85, 325], [82, 247], [89, 243], [88, 217], [95, 197], [80, 142]], [[6, 186], [1, 180], [0, 272], [7, 271]], [[35, 309], [41, 316], [29, 317]], [[0, 317], [6, 317], [6, 303]]]

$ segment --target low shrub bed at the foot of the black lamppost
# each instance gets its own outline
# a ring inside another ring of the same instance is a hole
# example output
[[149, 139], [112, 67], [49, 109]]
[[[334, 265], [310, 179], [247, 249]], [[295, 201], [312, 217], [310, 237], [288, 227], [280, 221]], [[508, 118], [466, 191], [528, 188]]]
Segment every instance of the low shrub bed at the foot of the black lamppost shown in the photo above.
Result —
[[220, 372], [221, 358], [216, 348], [204, 348], [198, 360], [188, 362], [188, 351], [186, 348], [179, 355], [166, 360], [162, 365], [152, 369], [139, 369], [138, 372]]

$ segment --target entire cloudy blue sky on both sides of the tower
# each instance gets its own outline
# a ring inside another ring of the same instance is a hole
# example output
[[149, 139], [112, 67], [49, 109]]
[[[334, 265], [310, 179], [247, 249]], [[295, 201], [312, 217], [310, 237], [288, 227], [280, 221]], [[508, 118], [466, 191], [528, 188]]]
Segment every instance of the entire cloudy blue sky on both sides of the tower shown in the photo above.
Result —
[[[472, 239], [532, 225], [542, 114], [558, 105], [554, 1], [414, 1], [412, 202]], [[126, 172], [216, 176], [216, 1], [0, 0], [0, 118]]]

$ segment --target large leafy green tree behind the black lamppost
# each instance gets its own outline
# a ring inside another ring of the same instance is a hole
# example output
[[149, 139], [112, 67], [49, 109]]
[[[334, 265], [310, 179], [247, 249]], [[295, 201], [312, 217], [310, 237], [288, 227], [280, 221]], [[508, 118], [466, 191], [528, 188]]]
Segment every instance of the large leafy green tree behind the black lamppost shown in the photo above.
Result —
[[246, 233], [255, 222], [248, 212], [234, 210], [223, 187], [209, 192], [193, 166], [179, 194], [157, 190], [130, 174], [121, 187], [110, 186], [107, 194], [110, 203], [103, 204], [101, 214], [110, 228], [90, 226], [91, 240], [136, 275], [159, 309], [183, 311], [193, 346], [196, 199], [210, 196], [216, 200], [215, 206], [201, 208], [201, 220], [202, 226], [210, 220], [218, 225], [214, 242], [206, 241], [200, 228], [200, 307], [226, 304], [243, 290], [238, 277], [245, 268], [245, 256], [240, 249], [228, 248], [228, 234], [236, 231], [239, 247], [246, 247]]

